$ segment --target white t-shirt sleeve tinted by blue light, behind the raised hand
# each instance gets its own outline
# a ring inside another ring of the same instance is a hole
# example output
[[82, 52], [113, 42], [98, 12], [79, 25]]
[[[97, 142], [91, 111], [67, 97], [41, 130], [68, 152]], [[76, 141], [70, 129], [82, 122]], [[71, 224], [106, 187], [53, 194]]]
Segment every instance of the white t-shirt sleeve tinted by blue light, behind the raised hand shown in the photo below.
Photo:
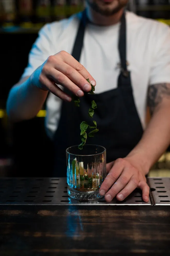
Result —
[[28, 57], [28, 65], [24, 69], [21, 78], [31, 76], [31, 74], [46, 61], [51, 55], [51, 44], [50, 24], [46, 24], [40, 29], [38, 37], [32, 45]]

